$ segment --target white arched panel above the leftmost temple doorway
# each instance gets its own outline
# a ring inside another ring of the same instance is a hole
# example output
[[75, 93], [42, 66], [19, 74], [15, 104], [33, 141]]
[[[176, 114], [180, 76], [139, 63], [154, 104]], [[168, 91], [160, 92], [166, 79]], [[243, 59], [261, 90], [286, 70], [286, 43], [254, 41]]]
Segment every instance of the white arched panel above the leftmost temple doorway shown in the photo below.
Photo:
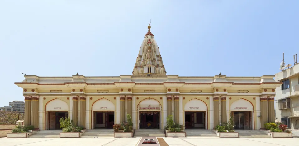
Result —
[[69, 111], [69, 105], [65, 101], [56, 98], [46, 105], [46, 111]]

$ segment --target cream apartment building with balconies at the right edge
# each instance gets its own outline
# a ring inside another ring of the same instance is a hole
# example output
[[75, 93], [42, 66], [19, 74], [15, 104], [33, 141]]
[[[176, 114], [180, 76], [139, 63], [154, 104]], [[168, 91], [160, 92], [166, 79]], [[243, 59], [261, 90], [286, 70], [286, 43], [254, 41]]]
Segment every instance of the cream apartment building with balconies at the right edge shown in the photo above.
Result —
[[[293, 67], [275, 74], [275, 81], [286, 86], [276, 88], [275, 112], [278, 122], [288, 125], [288, 128], [299, 128], [299, 63]], [[281, 103], [281, 105], [279, 104]], [[285, 104], [282, 106], [282, 103]]]

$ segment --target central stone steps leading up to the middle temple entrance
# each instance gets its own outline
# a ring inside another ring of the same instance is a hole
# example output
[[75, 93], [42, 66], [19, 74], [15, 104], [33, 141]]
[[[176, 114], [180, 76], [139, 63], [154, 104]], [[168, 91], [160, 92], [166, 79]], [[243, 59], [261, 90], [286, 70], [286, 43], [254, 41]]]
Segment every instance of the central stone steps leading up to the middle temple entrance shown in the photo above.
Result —
[[134, 137], [165, 137], [163, 129], [136, 129]]

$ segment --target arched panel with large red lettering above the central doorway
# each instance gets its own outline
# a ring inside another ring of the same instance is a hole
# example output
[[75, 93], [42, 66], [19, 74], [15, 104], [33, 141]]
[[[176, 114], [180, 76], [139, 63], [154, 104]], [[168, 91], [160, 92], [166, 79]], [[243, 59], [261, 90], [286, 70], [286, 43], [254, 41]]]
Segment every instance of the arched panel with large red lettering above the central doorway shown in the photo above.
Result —
[[160, 111], [162, 106], [160, 102], [154, 98], [146, 98], [139, 102], [137, 109], [139, 111]]

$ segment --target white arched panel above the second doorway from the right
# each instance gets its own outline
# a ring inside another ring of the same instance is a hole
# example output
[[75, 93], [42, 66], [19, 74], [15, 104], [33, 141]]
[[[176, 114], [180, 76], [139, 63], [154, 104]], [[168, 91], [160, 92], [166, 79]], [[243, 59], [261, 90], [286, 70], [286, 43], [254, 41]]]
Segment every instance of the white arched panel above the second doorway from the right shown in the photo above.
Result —
[[185, 111], [206, 111], [207, 109], [206, 103], [197, 98], [187, 101], [184, 107]]

